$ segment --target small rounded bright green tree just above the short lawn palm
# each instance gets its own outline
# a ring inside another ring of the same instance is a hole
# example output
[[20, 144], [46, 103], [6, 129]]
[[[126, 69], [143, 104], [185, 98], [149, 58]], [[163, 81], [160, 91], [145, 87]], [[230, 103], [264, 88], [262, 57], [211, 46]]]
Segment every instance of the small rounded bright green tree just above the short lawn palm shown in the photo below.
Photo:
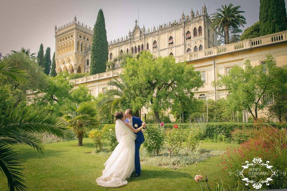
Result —
[[70, 93], [70, 100], [72, 102], [80, 104], [84, 101], [94, 100], [94, 96], [89, 93], [89, 89], [85, 85], [79, 85], [77, 89], [74, 89]]

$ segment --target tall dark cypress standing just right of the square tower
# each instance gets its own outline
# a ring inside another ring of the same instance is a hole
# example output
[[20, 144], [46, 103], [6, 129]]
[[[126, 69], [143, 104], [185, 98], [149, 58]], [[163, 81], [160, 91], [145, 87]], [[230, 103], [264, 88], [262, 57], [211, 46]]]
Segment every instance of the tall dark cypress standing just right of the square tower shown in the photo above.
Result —
[[108, 54], [109, 50], [105, 18], [103, 10], [100, 9], [97, 21], [94, 25], [93, 44], [91, 47], [91, 75], [106, 72]]

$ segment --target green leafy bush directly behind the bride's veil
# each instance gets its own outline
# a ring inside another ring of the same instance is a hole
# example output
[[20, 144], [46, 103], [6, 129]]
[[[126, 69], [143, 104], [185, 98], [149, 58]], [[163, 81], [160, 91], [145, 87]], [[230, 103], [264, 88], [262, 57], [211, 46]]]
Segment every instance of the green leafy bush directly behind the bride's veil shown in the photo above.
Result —
[[117, 137], [115, 133], [115, 124], [106, 124], [102, 129], [103, 137], [106, 139], [109, 150], [114, 150], [117, 146]]

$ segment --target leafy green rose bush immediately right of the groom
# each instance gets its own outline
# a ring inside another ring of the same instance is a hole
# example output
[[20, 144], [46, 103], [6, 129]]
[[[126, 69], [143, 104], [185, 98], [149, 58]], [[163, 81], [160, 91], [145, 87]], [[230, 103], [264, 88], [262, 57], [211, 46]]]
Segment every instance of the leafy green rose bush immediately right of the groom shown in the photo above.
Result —
[[149, 155], [158, 155], [161, 147], [164, 144], [164, 135], [157, 125], [149, 126], [144, 131], [144, 143], [143, 146]]

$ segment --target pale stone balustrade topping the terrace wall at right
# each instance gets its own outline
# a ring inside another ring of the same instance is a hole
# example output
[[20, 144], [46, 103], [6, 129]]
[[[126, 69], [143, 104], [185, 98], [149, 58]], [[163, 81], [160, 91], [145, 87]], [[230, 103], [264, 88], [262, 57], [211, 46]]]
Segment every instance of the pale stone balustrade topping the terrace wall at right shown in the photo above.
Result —
[[175, 56], [175, 61], [176, 62], [192, 61], [207, 58], [210, 56], [236, 52], [239, 50], [246, 50], [253, 47], [261, 47], [268, 44], [276, 44], [282, 41], [287, 41], [287, 30], [266, 36], [259, 36], [257, 38], [246, 39], [244, 41], [239, 41], [231, 44], [216, 46], [198, 52]]

